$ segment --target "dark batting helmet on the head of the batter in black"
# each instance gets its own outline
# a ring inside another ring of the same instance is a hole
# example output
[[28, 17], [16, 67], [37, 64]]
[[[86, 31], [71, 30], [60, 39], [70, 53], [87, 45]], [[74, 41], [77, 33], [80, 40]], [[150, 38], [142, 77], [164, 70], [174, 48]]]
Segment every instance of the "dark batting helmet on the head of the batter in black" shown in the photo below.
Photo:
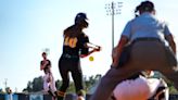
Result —
[[80, 12], [80, 13], [78, 13], [77, 15], [76, 15], [76, 17], [75, 17], [75, 24], [80, 24], [80, 23], [82, 23], [82, 22], [87, 22], [87, 15], [86, 15], [86, 13], [82, 13], [82, 12]]

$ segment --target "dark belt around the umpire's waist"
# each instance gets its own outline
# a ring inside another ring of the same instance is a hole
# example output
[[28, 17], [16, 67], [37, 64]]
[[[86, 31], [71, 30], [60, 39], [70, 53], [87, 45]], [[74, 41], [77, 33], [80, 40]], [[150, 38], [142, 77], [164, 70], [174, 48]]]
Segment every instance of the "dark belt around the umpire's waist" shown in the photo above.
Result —
[[137, 38], [137, 39], [132, 40], [131, 43], [135, 43], [137, 41], [158, 41], [158, 42], [162, 42], [162, 40], [158, 38], [147, 37], [147, 38]]

